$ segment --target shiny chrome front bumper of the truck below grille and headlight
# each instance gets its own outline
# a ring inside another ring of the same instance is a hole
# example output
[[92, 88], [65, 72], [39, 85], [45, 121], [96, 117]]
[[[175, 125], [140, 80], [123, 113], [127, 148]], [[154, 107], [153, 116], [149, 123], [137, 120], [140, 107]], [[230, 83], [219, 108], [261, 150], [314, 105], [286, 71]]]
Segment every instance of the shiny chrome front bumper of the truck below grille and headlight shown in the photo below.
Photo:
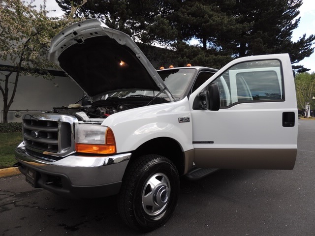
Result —
[[71, 154], [56, 160], [29, 151], [22, 143], [15, 149], [15, 157], [20, 172], [35, 188], [42, 187], [70, 198], [97, 198], [119, 192], [131, 153]]

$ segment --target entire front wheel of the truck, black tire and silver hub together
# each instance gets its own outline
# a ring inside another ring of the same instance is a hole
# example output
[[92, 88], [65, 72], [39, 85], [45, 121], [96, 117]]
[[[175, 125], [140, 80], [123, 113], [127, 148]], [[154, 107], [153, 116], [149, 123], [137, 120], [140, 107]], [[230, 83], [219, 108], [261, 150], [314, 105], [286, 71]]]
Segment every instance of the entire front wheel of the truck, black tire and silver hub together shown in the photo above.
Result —
[[131, 228], [151, 231], [172, 215], [179, 195], [175, 165], [160, 155], [144, 155], [127, 168], [118, 195], [121, 218]]

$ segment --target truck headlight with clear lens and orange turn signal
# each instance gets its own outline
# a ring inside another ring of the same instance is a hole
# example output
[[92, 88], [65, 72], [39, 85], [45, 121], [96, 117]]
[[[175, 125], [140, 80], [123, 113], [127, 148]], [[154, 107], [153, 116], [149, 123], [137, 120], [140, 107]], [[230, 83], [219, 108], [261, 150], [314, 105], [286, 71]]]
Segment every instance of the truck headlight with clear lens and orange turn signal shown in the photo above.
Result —
[[95, 124], [76, 125], [75, 150], [77, 152], [98, 154], [116, 153], [114, 133], [106, 126]]

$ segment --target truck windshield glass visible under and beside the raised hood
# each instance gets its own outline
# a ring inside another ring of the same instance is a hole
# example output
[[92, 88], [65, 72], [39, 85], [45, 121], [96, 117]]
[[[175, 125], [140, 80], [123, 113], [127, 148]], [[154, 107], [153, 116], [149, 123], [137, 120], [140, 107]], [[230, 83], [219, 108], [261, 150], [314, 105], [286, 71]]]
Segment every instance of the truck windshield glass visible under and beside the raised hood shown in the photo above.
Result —
[[[193, 68], [159, 70], [158, 74], [162, 78], [166, 87], [170, 90], [175, 98], [182, 98], [191, 82], [192, 76], [195, 73]], [[154, 97], [159, 93], [157, 90], [143, 90], [143, 89], [126, 89], [109, 91], [106, 94], [101, 94], [94, 97], [95, 100], [104, 100], [110, 98], [126, 98], [126, 97]], [[166, 97], [164, 93], [158, 97]]]

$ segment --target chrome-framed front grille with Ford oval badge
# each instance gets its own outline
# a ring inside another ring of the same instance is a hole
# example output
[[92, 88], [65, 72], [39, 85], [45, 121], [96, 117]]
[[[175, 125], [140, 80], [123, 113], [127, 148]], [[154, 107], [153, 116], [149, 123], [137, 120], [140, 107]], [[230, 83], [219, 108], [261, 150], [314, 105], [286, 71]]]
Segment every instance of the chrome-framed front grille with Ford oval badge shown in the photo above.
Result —
[[24, 145], [33, 151], [62, 157], [74, 152], [74, 123], [59, 114], [27, 114], [23, 117]]

